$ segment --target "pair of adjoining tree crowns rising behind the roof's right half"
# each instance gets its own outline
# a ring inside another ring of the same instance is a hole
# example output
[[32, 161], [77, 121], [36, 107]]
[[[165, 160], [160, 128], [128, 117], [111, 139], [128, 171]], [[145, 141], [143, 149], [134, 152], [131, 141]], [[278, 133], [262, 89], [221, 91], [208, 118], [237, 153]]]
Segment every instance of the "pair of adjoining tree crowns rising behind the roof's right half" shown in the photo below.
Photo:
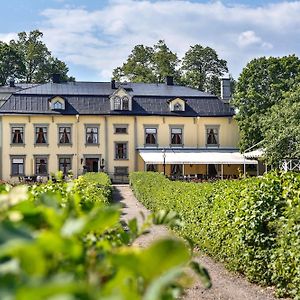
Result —
[[201, 45], [191, 46], [182, 62], [163, 40], [152, 47], [137, 45], [126, 62], [114, 69], [118, 81], [162, 83], [166, 76], [173, 76], [179, 84], [220, 92], [220, 77], [228, 72], [227, 62], [219, 59], [216, 51]]

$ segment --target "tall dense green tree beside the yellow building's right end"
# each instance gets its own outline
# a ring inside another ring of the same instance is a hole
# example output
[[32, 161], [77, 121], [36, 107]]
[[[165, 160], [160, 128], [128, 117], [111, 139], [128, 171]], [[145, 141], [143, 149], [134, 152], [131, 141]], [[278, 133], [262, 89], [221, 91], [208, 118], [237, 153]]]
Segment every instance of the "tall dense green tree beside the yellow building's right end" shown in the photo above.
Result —
[[300, 80], [300, 59], [295, 55], [253, 59], [236, 84], [232, 104], [237, 108], [242, 150], [265, 138], [264, 120], [273, 105], [280, 105], [286, 92]]

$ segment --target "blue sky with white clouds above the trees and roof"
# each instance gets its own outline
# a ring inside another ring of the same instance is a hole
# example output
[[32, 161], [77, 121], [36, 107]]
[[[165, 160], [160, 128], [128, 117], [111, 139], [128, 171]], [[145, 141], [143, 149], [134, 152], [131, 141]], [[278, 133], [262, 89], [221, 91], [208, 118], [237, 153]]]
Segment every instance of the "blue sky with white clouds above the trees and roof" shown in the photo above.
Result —
[[0, 40], [40, 29], [77, 80], [107, 81], [136, 44], [164, 39], [179, 57], [210, 46], [237, 78], [259, 56], [300, 56], [300, 1], [1, 1]]

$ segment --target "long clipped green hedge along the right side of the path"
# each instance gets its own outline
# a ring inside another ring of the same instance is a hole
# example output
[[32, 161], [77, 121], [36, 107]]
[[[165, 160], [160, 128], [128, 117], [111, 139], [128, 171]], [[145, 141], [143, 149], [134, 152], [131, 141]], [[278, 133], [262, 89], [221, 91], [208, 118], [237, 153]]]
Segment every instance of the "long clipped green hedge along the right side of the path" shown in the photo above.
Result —
[[202, 251], [300, 299], [299, 174], [197, 184], [136, 172], [130, 182], [149, 209], [176, 211], [184, 221], [179, 233]]

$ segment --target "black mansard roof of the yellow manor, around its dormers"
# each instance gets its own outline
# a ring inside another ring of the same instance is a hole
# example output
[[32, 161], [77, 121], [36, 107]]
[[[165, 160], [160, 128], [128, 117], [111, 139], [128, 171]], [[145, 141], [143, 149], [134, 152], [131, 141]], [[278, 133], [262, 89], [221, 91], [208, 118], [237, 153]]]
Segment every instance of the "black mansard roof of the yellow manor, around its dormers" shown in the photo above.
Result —
[[[110, 82], [46, 83], [17, 91], [0, 108], [0, 114], [61, 115], [174, 115], [232, 116], [234, 110], [218, 97], [196, 89], [166, 84], [122, 83], [133, 96], [132, 111], [111, 111], [109, 96], [115, 89]], [[49, 100], [62, 96], [65, 110], [49, 108]], [[184, 112], [171, 112], [168, 100], [176, 97], [186, 101]]]

